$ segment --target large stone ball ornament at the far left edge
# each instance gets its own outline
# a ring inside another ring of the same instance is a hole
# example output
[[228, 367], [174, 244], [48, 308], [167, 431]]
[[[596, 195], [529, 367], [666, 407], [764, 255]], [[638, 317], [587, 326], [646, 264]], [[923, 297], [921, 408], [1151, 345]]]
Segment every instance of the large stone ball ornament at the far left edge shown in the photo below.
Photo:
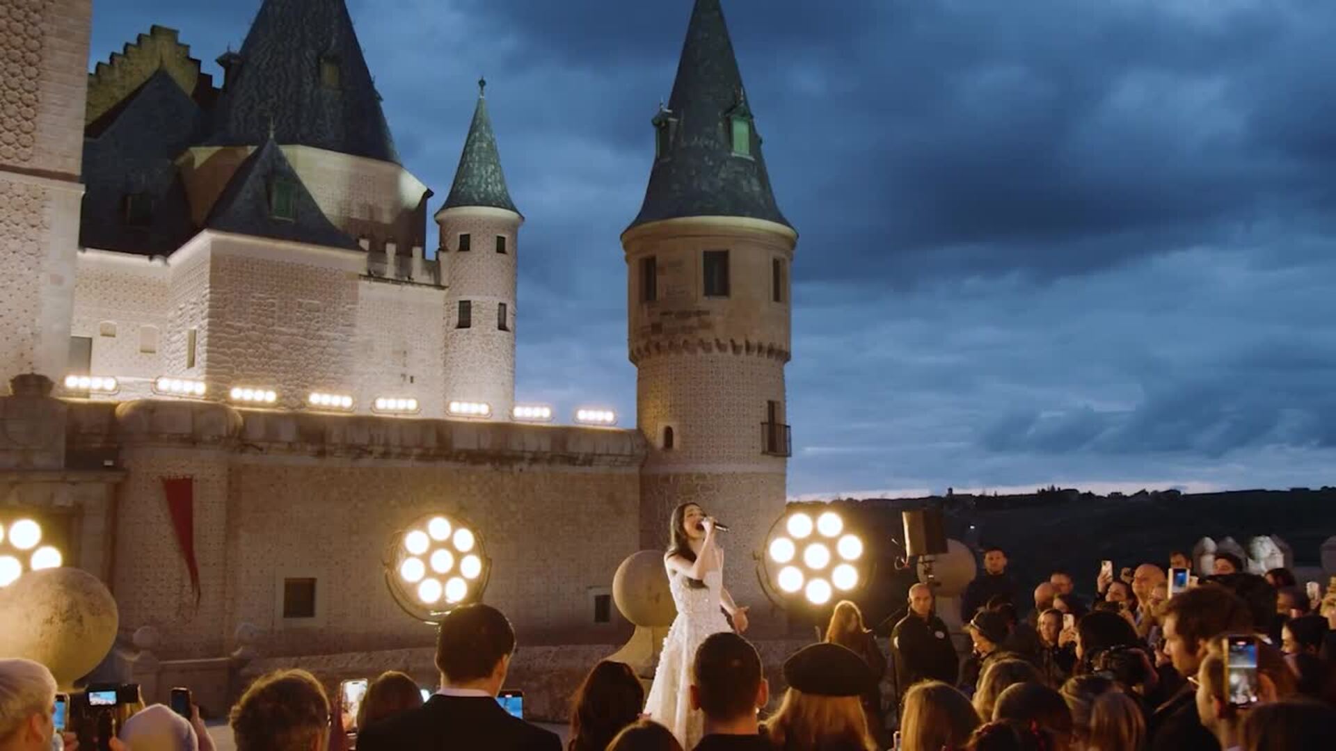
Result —
[[116, 641], [116, 600], [77, 568], [29, 571], [0, 588], [0, 655], [47, 665], [63, 690], [92, 672]]

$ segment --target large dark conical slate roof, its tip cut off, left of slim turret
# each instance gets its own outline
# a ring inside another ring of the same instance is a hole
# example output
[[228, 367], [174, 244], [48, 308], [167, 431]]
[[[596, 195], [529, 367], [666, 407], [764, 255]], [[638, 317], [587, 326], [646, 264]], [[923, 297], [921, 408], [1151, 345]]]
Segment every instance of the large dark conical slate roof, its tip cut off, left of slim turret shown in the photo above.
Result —
[[381, 95], [343, 0], [265, 0], [228, 80], [210, 143], [279, 143], [398, 163]]

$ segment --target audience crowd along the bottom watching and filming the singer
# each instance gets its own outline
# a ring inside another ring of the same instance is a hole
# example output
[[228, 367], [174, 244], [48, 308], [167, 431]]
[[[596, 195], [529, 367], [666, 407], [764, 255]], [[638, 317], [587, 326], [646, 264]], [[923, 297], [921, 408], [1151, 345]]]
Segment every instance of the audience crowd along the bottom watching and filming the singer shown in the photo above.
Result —
[[[1069, 573], [1033, 591], [1033, 608], [985, 553], [962, 616], [973, 648], [958, 659], [933, 587], [908, 591], [888, 661], [854, 603], [839, 603], [826, 639], [783, 664], [771, 696], [756, 648], [739, 633], [708, 636], [691, 655], [689, 706], [703, 718], [696, 750], [756, 751], [1289, 751], [1336, 744], [1336, 587], [1319, 601], [1284, 569], [1216, 575], [1169, 596], [1165, 571], [1102, 568], [1086, 603]], [[1178, 563], [1178, 561], [1172, 561]], [[1025, 615], [1021, 615], [1021, 613]], [[1250, 647], [1249, 664], [1234, 645]], [[370, 683], [354, 739], [321, 683], [281, 671], [253, 683], [231, 710], [238, 751], [687, 751], [645, 714], [645, 690], [601, 661], [573, 698], [569, 739], [497, 702], [516, 635], [496, 608], [474, 604], [438, 628], [440, 690], [424, 700], [398, 672]], [[1242, 668], [1240, 672], [1236, 668]], [[1252, 673], [1246, 669], [1252, 668]], [[1238, 675], [1244, 678], [1240, 679]], [[1252, 678], [1248, 678], [1248, 676]], [[883, 676], [892, 691], [882, 692]], [[1242, 683], [1240, 683], [1242, 682]], [[52, 718], [56, 683], [40, 664], [0, 660], [0, 751], [77, 748]], [[767, 714], [767, 708], [776, 708]], [[63, 744], [63, 746], [61, 746]], [[211, 751], [199, 722], [136, 707], [115, 751]], [[100, 750], [99, 750], [100, 751]]]

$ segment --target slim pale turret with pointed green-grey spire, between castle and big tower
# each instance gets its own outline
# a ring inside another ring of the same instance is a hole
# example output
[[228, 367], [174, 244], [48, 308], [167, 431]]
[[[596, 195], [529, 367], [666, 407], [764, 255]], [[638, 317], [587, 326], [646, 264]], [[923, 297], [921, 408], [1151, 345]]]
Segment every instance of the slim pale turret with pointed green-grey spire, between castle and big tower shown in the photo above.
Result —
[[441, 226], [445, 295], [445, 401], [481, 402], [493, 420], [514, 405], [514, 297], [520, 224], [488, 116], [486, 82], [464, 143]]

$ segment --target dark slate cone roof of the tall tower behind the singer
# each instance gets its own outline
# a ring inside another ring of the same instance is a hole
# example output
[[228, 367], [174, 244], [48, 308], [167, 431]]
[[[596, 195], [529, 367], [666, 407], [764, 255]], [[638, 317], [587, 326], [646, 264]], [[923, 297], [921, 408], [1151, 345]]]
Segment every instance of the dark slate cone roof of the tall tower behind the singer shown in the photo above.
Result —
[[751, 127], [748, 156], [733, 155], [731, 119], [752, 122], [720, 0], [696, 0], [668, 110], [668, 148], [655, 160], [632, 227], [679, 216], [749, 216], [790, 226], [770, 188], [762, 139]]

